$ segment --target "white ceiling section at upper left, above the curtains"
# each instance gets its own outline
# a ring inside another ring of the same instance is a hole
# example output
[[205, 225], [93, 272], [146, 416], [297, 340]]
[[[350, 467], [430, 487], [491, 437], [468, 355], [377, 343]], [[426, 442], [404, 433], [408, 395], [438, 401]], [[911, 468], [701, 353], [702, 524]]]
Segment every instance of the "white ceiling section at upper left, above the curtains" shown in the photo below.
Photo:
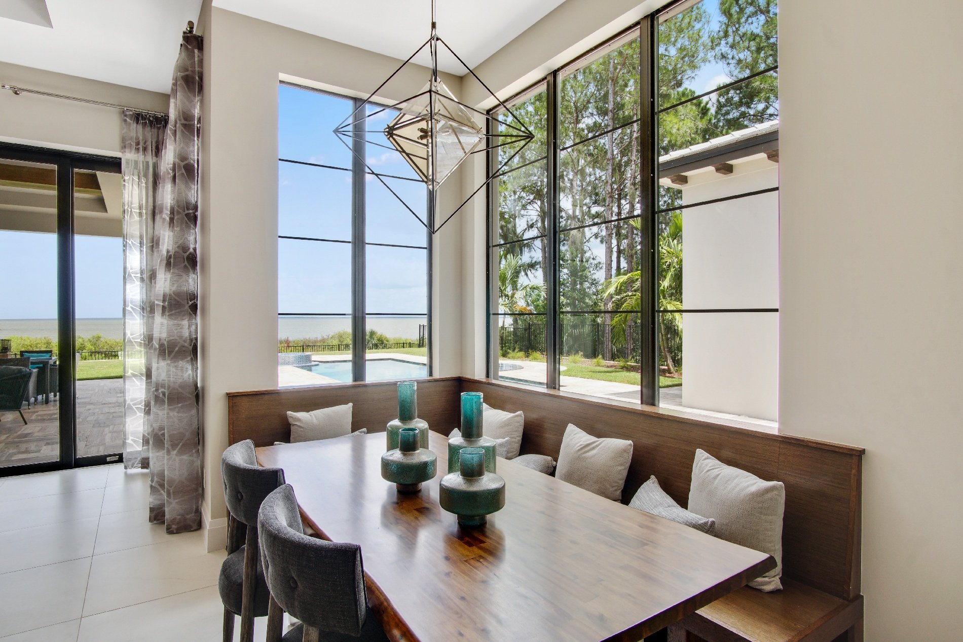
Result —
[[[37, 4], [0, 0], [8, 2]], [[181, 32], [200, 3], [46, 0], [53, 28], [0, 12], [0, 61], [168, 93]]]

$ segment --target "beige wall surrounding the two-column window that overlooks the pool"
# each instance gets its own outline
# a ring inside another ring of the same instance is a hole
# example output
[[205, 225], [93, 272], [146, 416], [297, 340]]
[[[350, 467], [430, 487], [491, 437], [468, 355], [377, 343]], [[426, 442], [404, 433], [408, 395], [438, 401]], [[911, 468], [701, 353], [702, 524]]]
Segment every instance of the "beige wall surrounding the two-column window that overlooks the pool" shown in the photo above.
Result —
[[[208, 549], [214, 550], [223, 546], [226, 527], [220, 467], [227, 446], [226, 393], [277, 385], [278, 77], [366, 96], [401, 61], [217, 8], [205, 7], [200, 22], [205, 33], [200, 372], [204, 516]], [[404, 85], [399, 90], [411, 95], [428, 82], [429, 71], [410, 69], [399, 78]], [[460, 79], [444, 81], [460, 90]], [[460, 179], [451, 180], [457, 185]], [[443, 195], [442, 212], [460, 202], [456, 192]], [[439, 375], [461, 370], [460, 236], [455, 218], [434, 240]]]

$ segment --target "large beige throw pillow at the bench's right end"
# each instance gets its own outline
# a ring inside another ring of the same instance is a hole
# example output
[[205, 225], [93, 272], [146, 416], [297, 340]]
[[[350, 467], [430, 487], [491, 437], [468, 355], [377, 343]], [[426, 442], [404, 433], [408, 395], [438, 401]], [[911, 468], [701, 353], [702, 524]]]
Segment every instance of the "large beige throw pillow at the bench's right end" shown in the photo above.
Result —
[[695, 451], [689, 510], [716, 520], [716, 537], [748, 549], [766, 552], [776, 568], [753, 579], [761, 591], [782, 588], [782, 520], [786, 487], [726, 466], [704, 450]]

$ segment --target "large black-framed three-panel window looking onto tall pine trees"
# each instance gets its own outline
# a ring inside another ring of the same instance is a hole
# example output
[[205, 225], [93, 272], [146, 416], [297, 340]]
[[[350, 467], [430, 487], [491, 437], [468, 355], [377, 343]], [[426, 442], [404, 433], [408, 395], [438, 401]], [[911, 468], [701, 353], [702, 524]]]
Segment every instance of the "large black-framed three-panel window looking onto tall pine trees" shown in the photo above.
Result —
[[489, 157], [492, 376], [775, 421], [776, 13], [673, 3], [508, 101], [543, 139]]

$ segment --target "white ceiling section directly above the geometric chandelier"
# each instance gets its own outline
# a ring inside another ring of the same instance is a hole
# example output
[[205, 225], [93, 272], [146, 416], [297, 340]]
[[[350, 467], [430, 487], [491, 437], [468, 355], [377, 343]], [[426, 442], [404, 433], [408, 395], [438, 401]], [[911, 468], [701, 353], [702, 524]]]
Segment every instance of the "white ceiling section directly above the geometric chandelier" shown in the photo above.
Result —
[[[563, 1], [436, 0], [438, 35], [474, 67]], [[214, 6], [401, 60], [428, 39], [431, 26], [429, 0], [214, 0]], [[467, 73], [441, 53], [438, 65], [458, 76]]]

